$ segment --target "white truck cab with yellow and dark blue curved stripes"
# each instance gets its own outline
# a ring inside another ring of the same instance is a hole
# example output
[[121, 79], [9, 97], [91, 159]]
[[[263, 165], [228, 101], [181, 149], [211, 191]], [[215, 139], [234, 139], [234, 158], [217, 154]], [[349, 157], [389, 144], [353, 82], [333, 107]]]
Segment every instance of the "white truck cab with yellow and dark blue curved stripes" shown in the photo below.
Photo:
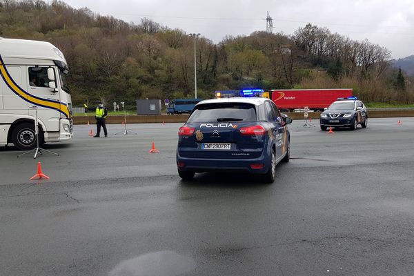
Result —
[[51, 43], [0, 37], [0, 146], [20, 150], [72, 138], [72, 99], [62, 52]]

